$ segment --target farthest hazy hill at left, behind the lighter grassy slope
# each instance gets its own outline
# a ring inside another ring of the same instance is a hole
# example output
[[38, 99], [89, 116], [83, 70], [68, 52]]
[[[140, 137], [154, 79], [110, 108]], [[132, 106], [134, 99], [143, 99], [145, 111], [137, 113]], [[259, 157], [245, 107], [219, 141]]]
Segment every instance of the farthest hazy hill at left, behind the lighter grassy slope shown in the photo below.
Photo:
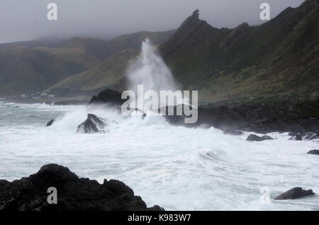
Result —
[[74, 37], [57, 47], [41, 46], [41, 42], [35, 41], [0, 45], [3, 47], [0, 50], [0, 95], [44, 91], [68, 76], [98, 66], [116, 52], [138, 49], [138, 43], [141, 45], [145, 37], [159, 45], [173, 33], [174, 30], [145, 31], [113, 40]]

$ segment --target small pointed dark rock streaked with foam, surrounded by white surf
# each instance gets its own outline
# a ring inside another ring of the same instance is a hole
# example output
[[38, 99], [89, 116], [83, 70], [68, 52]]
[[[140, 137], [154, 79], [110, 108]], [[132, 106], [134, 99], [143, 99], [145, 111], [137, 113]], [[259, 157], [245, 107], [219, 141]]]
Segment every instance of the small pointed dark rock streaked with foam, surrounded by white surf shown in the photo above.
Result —
[[107, 120], [97, 117], [94, 114], [88, 114], [87, 118], [77, 127], [77, 133], [92, 134], [108, 132], [105, 129]]

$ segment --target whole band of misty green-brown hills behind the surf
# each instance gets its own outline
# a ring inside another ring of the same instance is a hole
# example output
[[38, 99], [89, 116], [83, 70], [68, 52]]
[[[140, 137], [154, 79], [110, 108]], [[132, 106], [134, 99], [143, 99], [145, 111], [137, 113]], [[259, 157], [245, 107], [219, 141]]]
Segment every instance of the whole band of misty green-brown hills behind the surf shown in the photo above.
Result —
[[[0, 93], [46, 89], [77, 96], [103, 88], [123, 91], [128, 62], [150, 37], [174, 79], [184, 90], [198, 90], [201, 103], [317, 99], [318, 5], [318, 0], [304, 1], [257, 26], [213, 28], [194, 11], [177, 30], [164, 33], [141, 32], [110, 41], [74, 37], [55, 49], [12, 47], [0, 52], [0, 62], [10, 57], [15, 62], [0, 67]], [[40, 59], [53, 63], [44, 66]], [[33, 67], [26, 67], [30, 62]]]

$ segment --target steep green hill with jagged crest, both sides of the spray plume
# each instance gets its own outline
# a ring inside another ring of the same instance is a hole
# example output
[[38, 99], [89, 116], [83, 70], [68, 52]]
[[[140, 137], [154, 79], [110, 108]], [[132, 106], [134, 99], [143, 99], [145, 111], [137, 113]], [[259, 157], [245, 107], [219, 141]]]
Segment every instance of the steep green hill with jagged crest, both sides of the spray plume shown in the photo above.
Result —
[[[201, 103], [318, 98], [318, 1], [307, 0], [298, 8], [286, 8], [262, 25], [242, 23], [234, 29], [213, 28], [194, 11], [159, 46], [159, 52], [184, 90], [198, 90]], [[129, 37], [133, 36], [120, 39]], [[140, 47], [142, 38], [135, 40], [134, 46]], [[70, 76], [48, 91], [97, 93], [103, 87], [122, 91], [125, 65], [136, 54], [114, 54], [94, 69]]]

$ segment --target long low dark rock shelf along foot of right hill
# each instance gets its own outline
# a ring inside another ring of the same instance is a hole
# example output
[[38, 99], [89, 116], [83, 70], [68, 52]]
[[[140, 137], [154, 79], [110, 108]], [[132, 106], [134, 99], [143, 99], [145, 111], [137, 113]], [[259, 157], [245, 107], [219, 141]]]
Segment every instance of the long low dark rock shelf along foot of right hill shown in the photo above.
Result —
[[[316, 108], [319, 103], [309, 102]], [[165, 119], [172, 125], [185, 127], [216, 127], [218, 129], [235, 129], [245, 132], [267, 134], [270, 132], [295, 132], [304, 135], [306, 132], [317, 132], [319, 120], [315, 117], [284, 117], [289, 113], [293, 103], [276, 106], [240, 105], [228, 107], [225, 105], [201, 105], [198, 106], [198, 120], [194, 124], [185, 124], [185, 115], [165, 115]], [[280, 107], [280, 112], [277, 107]], [[293, 105], [296, 107], [296, 105]], [[319, 107], [319, 106], [318, 106]], [[318, 108], [317, 107], [317, 108]], [[176, 108], [176, 106], [174, 107]], [[279, 114], [280, 113], [280, 114]], [[293, 134], [293, 133], [291, 133]], [[292, 139], [296, 139], [293, 137]], [[297, 139], [301, 139], [300, 136]]]

